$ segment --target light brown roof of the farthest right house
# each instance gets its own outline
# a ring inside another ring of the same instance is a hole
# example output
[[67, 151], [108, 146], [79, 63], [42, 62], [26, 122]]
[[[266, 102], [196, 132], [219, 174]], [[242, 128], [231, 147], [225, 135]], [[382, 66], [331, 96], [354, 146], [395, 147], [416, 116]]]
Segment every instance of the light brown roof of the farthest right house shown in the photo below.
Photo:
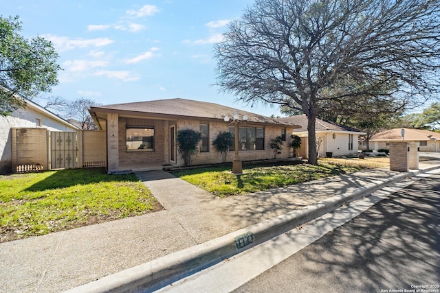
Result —
[[[393, 128], [376, 133], [370, 141], [401, 141], [401, 129]], [[440, 133], [429, 130], [403, 128], [405, 130], [406, 141], [428, 141], [430, 139], [440, 139]]]

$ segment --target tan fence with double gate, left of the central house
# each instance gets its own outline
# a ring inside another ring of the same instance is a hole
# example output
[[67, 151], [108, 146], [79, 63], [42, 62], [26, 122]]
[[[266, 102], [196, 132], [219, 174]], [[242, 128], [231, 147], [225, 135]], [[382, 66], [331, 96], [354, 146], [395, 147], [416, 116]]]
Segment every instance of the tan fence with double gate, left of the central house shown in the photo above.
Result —
[[11, 142], [12, 172], [107, 166], [104, 131], [12, 128]]

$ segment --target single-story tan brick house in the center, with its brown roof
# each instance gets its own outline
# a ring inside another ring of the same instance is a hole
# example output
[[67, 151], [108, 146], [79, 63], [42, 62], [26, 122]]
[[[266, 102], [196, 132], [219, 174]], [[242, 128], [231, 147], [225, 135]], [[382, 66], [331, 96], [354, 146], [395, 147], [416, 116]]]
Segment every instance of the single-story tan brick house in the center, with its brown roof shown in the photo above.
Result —
[[[100, 130], [107, 131], [107, 166], [109, 172], [142, 169], [148, 164], [183, 165], [177, 153], [176, 135], [190, 128], [202, 133], [199, 152], [192, 165], [221, 163], [221, 154], [212, 140], [221, 131], [234, 132], [231, 125], [234, 108], [189, 99], [162, 99], [149, 102], [92, 106], [91, 116]], [[288, 122], [239, 110], [248, 121], [239, 125], [239, 151], [242, 161], [271, 159], [270, 139], [292, 133]], [[224, 117], [230, 117], [229, 122]], [[287, 140], [289, 135], [287, 135]], [[283, 142], [278, 158], [288, 158], [289, 141]], [[227, 161], [232, 161], [229, 152]]]

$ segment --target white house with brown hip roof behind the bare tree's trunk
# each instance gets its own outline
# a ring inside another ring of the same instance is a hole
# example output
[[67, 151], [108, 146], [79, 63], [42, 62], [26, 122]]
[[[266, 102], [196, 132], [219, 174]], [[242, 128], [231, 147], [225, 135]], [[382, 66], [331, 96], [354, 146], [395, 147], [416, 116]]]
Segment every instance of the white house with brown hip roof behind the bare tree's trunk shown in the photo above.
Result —
[[[306, 115], [296, 115], [281, 118], [289, 124], [298, 125], [301, 128], [294, 129], [293, 134], [301, 138], [301, 148], [298, 151], [299, 156], [308, 157], [309, 134], [307, 132]], [[347, 154], [358, 153], [358, 138], [365, 132], [360, 132], [348, 126], [342, 126], [335, 122], [316, 118], [316, 144], [318, 145], [318, 156], [326, 156], [331, 152], [332, 156], [343, 156]]]

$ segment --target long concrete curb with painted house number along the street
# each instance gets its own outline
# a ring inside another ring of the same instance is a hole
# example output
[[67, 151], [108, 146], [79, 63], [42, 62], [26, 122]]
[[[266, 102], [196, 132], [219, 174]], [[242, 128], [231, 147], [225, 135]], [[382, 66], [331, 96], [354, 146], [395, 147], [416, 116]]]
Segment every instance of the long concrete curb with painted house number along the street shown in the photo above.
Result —
[[253, 224], [222, 237], [142, 263], [139, 266], [111, 274], [65, 292], [153, 292], [168, 283], [219, 263], [223, 259], [232, 257], [243, 250], [272, 239], [276, 235], [314, 220], [366, 194], [397, 183], [404, 180], [404, 178], [417, 176], [439, 167], [439, 165], [434, 165], [423, 170], [412, 170], [397, 174], [381, 183], [371, 183], [359, 187], [355, 191], [333, 196], [303, 209], [294, 210], [276, 218]]

